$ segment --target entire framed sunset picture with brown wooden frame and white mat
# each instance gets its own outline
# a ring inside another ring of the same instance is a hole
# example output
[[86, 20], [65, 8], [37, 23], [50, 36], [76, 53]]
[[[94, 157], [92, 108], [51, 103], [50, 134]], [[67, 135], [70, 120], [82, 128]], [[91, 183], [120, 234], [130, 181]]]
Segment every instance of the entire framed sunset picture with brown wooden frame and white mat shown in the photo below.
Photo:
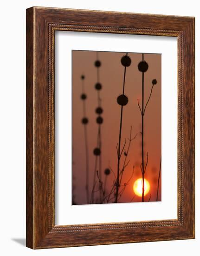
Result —
[[26, 10], [26, 246], [194, 238], [194, 17]]

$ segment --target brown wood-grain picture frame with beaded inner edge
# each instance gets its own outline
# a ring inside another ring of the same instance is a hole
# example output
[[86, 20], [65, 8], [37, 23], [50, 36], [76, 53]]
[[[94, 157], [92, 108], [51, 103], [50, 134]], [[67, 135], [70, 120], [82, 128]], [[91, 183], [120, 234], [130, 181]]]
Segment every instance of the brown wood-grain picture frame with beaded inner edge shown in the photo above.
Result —
[[[27, 247], [194, 238], [194, 18], [32, 7], [26, 23]], [[55, 226], [55, 30], [178, 38], [178, 219]]]

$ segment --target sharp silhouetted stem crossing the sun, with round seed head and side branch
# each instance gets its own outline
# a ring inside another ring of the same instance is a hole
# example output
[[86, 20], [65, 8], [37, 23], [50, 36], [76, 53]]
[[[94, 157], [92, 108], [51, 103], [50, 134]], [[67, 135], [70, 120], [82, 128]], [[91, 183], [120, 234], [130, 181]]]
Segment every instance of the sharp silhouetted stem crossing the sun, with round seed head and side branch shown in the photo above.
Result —
[[[141, 116], [142, 116], [142, 163], [141, 163], [141, 172], [142, 172], [142, 202], [144, 202], [144, 175], [146, 172], [146, 168], [147, 168], [147, 164], [148, 164], [148, 153], [147, 153], [147, 161], [146, 161], [146, 165], [144, 166], [144, 114], [145, 114], [145, 110], [147, 108], [148, 102], [150, 100], [153, 88], [155, 86], [155, 84], [157, 84], [156, 79], [152, 80], [152, 88], [151, 88], [151, 92], [150, 95], [148, 97], [148, 101], [146, 103], [146, 105], [144, 106], [144, 73], [148, 71], [148, 63], [146, 61], [144, 61], [144, 54], [142, 54], [142, 61], [140, 61], [138, 63], [138, 70], [140, 72], [142, 72], [142, 108], [140, 107], [139, 104], [139, 100], [137, 99], [137, 104], [138, 107], [140, 109], [141, 112]], [[150, 198], [149, 198], [150, 200]]]

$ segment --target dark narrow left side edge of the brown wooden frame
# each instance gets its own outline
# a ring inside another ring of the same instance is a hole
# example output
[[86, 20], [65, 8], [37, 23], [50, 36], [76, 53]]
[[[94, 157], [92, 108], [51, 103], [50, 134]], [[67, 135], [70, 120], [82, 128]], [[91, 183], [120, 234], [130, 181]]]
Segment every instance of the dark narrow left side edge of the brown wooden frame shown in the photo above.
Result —
[[26, 246], [33, 248], [33, 12], [26, 11]]

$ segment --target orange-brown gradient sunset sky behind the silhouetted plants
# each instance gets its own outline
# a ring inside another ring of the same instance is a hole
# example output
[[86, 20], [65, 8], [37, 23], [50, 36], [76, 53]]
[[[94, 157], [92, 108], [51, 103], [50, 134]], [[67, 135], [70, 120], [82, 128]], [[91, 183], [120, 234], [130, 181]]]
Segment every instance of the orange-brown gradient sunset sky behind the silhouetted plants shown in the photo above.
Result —
[[[121, 64], [121, 57], [126, 53], [98, 52], [98, 59], [102, 65], [99, 68], [100, 79], [103, 88], [100, 91], [103, 108], [102, 124], [102, 171], [111, 167], [117, 172], [116, 144], [119, 139], [120, 109], [116, 98], [123, 92], [124, 67]], [[130, 126], [132, 141], [128, 161], [129, 165], [124, 171], [122, 184], [129, 180], [133, 166], [135, 171], [129, 185], [120, 198], [119, 202], [130, 202], [135, 195], [133, 183], [142, 177], [140, 164], [142, 162], [141, 149], [141, 113], [137, 105], [137, 99], [141, 104], [142, 95], [142, 73], [137, 65], [142, 61], [142, 53], [128, 53], [131, 58], [131, 65], [126, 69], [125, 94], [129, 98], [128, 104], [123, 108], [122, 142], [129, 137]], [[86, 204], [85, 192], [85, 145], [84, 127], [81, 123], [83, 118], [83, 102], [80, 100], [82, 93], [82, 81], [80, 76], [85, 75], [84, 88], [87, 94], [86, 113], [89, 119], [87, 125], [89, 162], [90, 162], [90, 191], [92, 189], [95, 156], [93, 149], [97, 146], [97, 90], [94, 86], [97, 82], [97, 67], [94, 62], [97, 60], [97, 52], [94, 51], [72, 51], [72, 147], [73, 147], [73, 196], [76, 204]], [[161, 159], [161, 54], [144, 54], [144, 61], [148, 62], [148, 71], [144, 74], [144, 102], [148, 100], [152, 80], [156, 79], [157, 84], [153, 89], [151, 99], [144, 116], [144, 153], [145, 161], [148, 152], [148, 166], [145, 178], [150, 183], [150, 191], [145, 196], [145, 201], [156, 201], [157, 181]], [[145, 104], [145, 103], [144, 103]], [[128, 146], [128, 141], [127, 144]], [[127, 148], [127, 147], [126, 147]], [[123, 162], [123, 156], [122, 156]], [[104, 174], [103, 181], [104, 181]], [[115, 177], [111, 173], [107, 179], [107, 188], [110, 191]], [[161, 179], [159, 185], [159, 201], [161, 200]], [[141, 202], [141, 197], [135, 196], [133, 202]]]

